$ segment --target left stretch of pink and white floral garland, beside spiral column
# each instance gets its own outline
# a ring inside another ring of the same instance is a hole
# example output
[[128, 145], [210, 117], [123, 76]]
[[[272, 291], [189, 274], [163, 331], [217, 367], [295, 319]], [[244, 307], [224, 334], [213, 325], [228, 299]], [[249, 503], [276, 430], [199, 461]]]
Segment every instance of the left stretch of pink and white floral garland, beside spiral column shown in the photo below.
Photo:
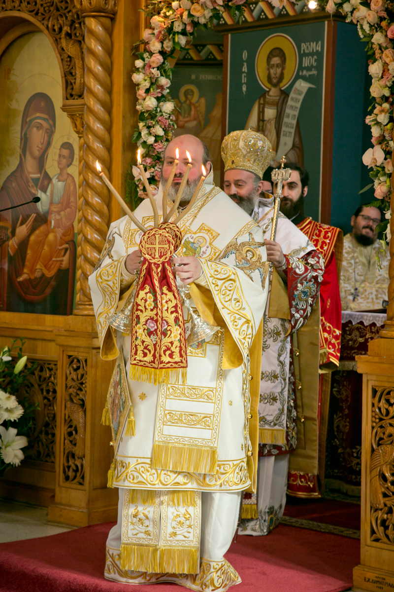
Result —
[[[276, 1], [276, 0], [274, 0]], [[190, 43], [197, 27], [208, 28], [226, 9], [233, 18], [242, 18], [246, 0], [150, 0], [145, 14], [150, 28], [136, 46], [144, 44], [144, 52], [136, 53], [132, 81], [137, 89], [138, 128], [133, 141], [141, 148], [142, 165], [149, 179], [152, 194], [156, 194], [161, 174], [161, 157], [175, 129], [175, 104], [169, 86], [172, 70], [169, 59]], [[138, 167], [132, 167], [134, 179], [128, 183], [127, 198], [133, 207], [146, 197]]]

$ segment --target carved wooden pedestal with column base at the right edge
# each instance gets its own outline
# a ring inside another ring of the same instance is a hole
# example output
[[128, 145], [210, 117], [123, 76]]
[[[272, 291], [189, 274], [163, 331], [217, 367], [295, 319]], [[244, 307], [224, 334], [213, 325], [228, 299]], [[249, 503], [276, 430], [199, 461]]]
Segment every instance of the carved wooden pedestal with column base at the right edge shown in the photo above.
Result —
[[[394, 211], [394, 178], [392, 189]], [[394, 217], [390, 231], [387, 321], [368, 355], [356, 357], [363, 374], [362, 515], [352, 590], [362, 592], [394, 589]]]

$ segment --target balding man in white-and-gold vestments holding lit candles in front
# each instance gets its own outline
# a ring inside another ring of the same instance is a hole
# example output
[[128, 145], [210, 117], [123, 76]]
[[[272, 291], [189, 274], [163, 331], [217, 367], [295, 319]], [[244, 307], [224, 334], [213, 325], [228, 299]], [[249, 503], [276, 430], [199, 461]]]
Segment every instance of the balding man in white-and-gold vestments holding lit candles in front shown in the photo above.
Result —
[[[258, 351], [268, 263], [261, 229], [213, 185], [206, 146], [194, 136], [177, 137], [165, 150], [155, 197], [159, 223], [163, 189], [177, 148], [180, 157], [168, 194], [168, 212], [187, 167], [186, 149], [192, 166], [172, 221], [187, 207], [202, 164], [209, 173], [193, 207], [177, 222], [182, 244], [172, 259], [181, 292], [182, 285], [190, 286], [191, 300], [187, 302], [186, 296], [183, 306], [185, 384], [152, 384], [135, 379], [135, 374], [132, 379], [131, 336], [115, 332], [109, 324], [141, 281], [136, 274], [141, 269], [139, 245], [145, 234], [128, 217], [110, 226], [102, 258], [89, 278], [101, 355], [118, 358], [108, 413], [117, 434], [109, 484], [119, 488], [119, 514], [107, 541], [105, 577], [129, 584], [171, 581], [192, 590], [224, 591], [241, 581], [224, 554], [236, 530], [241, 492], [255, 491], [256, 485]], [[268, 150], [261, 158], [269, 160]], [[149, 228], [153, 214], [148, 199], [135, 210], [136, 218]], [[183, 256], [191, 252], [190, 245], [198, 245], [195, 256]], [[154, 321], [155, 298], [147, 295], [145, 304], [152, 318], [145, 326], [139, 318], [137, 331], [153, 344], [160, 327], [163, 334], [170, 330], [179, 336], [173, 322], [170, 327], [170, 317], [159, 327]], [[202, 319], [211, 326], [211, 334], [193, 343], [196, 318], [197, 324]], [[255, 337], [257, 346], [252, 345]], [[118, 404], [116, 393], [123, 390], [127, 392]], [[118, 427], [126, 411], [128, 420]]]

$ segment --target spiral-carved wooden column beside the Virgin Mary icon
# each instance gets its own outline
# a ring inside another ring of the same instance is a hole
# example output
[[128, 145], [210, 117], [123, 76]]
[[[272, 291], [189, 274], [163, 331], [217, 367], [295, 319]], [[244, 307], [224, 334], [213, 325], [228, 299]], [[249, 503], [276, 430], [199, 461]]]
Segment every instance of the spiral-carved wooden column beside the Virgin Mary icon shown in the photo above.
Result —
[[85, 21], [82, 215], [74, 314], [93, 315], [87, 282], [103, 249], [109, 227], [109, 192], [97, 174], [96, 160], [108, 175], [112, 18], [117, 0], [75, 0]]

